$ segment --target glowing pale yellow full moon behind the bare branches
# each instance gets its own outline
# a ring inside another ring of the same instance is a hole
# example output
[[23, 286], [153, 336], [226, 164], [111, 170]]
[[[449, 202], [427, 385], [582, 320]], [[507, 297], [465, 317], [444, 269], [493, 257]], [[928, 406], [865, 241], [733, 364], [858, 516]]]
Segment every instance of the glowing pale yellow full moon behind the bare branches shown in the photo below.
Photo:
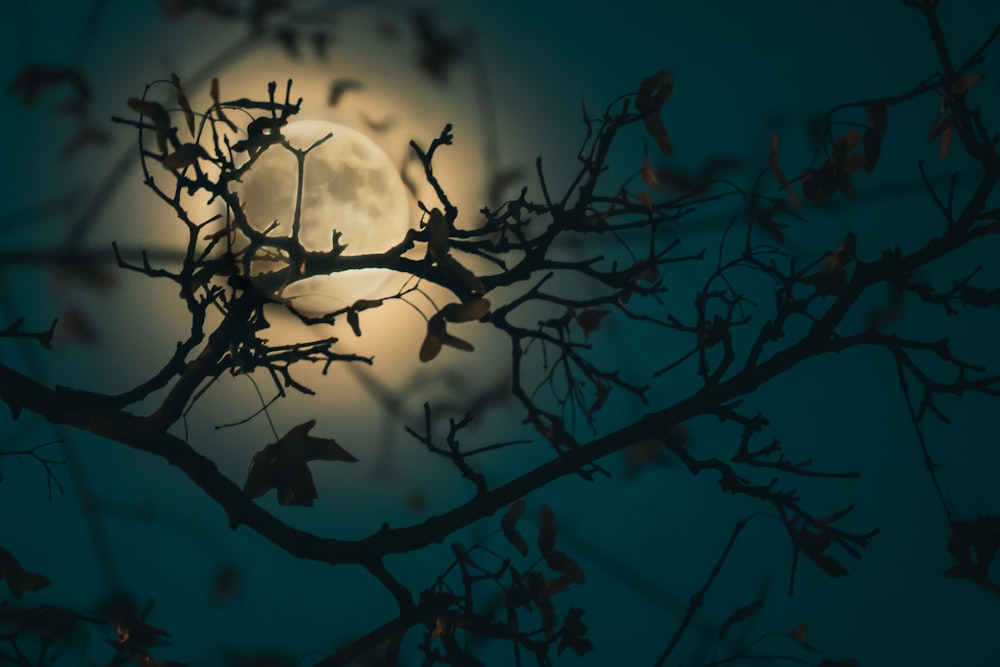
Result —
[[[299, 242], [310, 252], [333, 248], [333, 233], [345, 255], [385, 252], [410, 226], [410, 196], [389, 157], [360, 132], [325, 121], [297, 121], [282, 128], [289, 145], [309, 151], [303, 164]], [[243, 179], [240, 198], [247, 219], [272, 235], [289, 236], [295, 215], [298, 165], [295, 155], [272, 146]], [[281, 296], [299, 310], [319, 313], [375, 295], [391, 276], [380, 269], [315, 276], [287, 287]]]

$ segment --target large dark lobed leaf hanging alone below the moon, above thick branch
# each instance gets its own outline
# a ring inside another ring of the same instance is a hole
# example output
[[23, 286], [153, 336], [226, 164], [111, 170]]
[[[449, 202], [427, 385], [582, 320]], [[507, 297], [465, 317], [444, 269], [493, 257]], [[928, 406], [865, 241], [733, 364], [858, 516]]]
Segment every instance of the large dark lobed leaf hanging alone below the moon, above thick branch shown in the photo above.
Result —
[[299, 424], [278, 442], [254, 454], [243, 486], [247, 495], [259, 498], [275, 489], [281, 505], [311, 507], [319, 495], [306, 464], [310, 461], [357, 461], [336, 440], [309, 435], [315, 425], [315, 419]]

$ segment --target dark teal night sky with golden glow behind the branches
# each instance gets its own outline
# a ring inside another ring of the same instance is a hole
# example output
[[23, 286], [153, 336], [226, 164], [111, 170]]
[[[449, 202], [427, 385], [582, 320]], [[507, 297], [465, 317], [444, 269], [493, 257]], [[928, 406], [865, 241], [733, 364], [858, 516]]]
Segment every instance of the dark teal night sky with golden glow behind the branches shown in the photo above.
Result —
[[[640, 188], [636, 174], [648, 148], [658, 168], [693, 175], [712, 158], [736, 158], [738, 165], [722, 176], [750, 191], [767, 168], [772, 134], [779, 137], [785, 171], [797, 175], [812, 157], [810, 123], [826, 110], [904, 93], [939, 67], [926, 23], [901, 2], [300, 3], [330, 8], [308, 31], [328, 35], [325, 56], [304, 34], [298, 56], [267, 31], [248, 37], [243, 19], [202, 10], [165, 17], [163, 6], [183, 4], [22, 0], [2, 10], [5, 86], [26, 65], [45, 64], [79, 67], [90, 91], [82, 121], [59, 111], [74, 99], [70, 85], [45, 91], [30, 107], [14, 93], [0, 97], [5, 143], [0, 327], [20, 316], [36, 329], [54, 317], [61, 322], [54, 349], [0, 341], [0, 359], [47, 385], [123, 391], [155, 372], [185, 333], [186, 311], [178, 304], [176, 287], [116, 270], [110, 252], [112, 241], [135, 252], [133, 258], [141, 248], [159, 252], [154, 257], [164, 261], [179, 252], [172, 211], [142, 185], [134, 128], [111, 121], [112, 116], [134, 116], [126, 100], [171, 73], [189, 82], [188, 94], [202, 107], [210, 103], [214, 76], [225, 98], [262, 98], [269, 81], [276, 80], [283, 91], [291, 78], [293, 97], [304, 99], [303, 118], [368, 133], [396, 165], [405, 160], [410, 139], [426, 145], [452, 123], [455, 143], [442, 149], [437, 173], [459, 207], [459, 220], [471, 226], [483, 205], [496, 203], [487, 199], [498, 170], [516, 170], [517, 183], [505, 195], [515, 196], [524, 184], [530, 197], [540, 199], [535, 158], [541, 156], [550, 188], [563, 192], [584, 136], [581, 101], [597, 116], [658, 70], [674, 75], [673, 96], [663, 112], [674, 155], [659, 155], [636, 126], [623, 133], [612, 154], [609, 184], [631, 178], [629, 187]], [[461, 55], [443, 78], [429, 75], [415, 55], [412, 16], [417, 8], [460, 45]], [[964, 60], [1000, 23], [1000, 6], [946, 0], [940, 15], [954, 57]], [[994, 45], [977, 70], [984, 81], [970, 92], [970, 99], [983, 106], [987, 123], [1000, 117], [995, 113], [998, 57]], [[330, 85], [338, 79], [362, 86], [330, 107]], [[925, 161], [935, 187], [946, 188], [951, 175], [958, 174], [956, 203], [969, 195], [976, 171], [957, 150], [939, 160], [938, 144], [928, 139], [937, 114], [933, 94], [890, 109], [881, 162], [873, 174], [855, 179], [856, 200], [838, 195], [822, 210], [806, 206], [801, 211], [805, 222], [788, 219], [783, 249], [809, 262], [853, 232], [858, 257], [874, 260], [884, 249], [912, 250], [938, 233], [944, 223], [921, 182], [918, 161]], [[851, 119], [864, 120], [863, 115]], [[391, 121], [389, 129], [371, 129], [383, 120]], [[85, 126], [107, 133], [106, 145], [91, 142], [68, 151]], [[763, 178], [777, 196], [771, 174]], [[420, 187], [421, 198], [431, 201], [430, 191]], [[991, 202], [995, 208], [995, 194]], [[418, 213], [414, 207], [415, 218]], [[745, 215], [739, 201], [723, 199], [698, 207], [674, 233], [682, 248], [691, 253], [707, 248], [714, 258], [735, 217], [743, 216], [735, 229], [745, 234]], [[95, 266], [112, 276], [113, 284], [60, 278], [54, 261], [60, 249], [69, 247], [103, 258]], [[949, 285], [982, 265], [979, 284], [995, 286], [1000, 272], [989, 260], [996, 251], [995, 243], [967, 249], [919, 278]], [[680, 264], [662, 277], [671, 290], [665, 310], [690, 312], [690, 295], [704, 279], [704, 268]], [[764, 300], [773, 292], [750, 276], [746, 289]], [[889, 299], [888, 290], [872, 294], [848, 322], [861, 322]], [[473, 491], [468, 482], [429, 456], [403, 427], [422, 430], [425, 401], [440, 410], [442, 419], [460, 418], [471, 396], [497, 393], [509, 374], [509, 345], [486, 327], [461, 325], [469, 327], [474, 353], [446, 350], [433, 363], [420, 364], [424, 325], [412, 310], [372, 314], [362, 324], [361, 338], [343, 322], [334, 335], [346, 351], [374, 354], [373, 368], [343, 364], [327, 375], [305, 369], [301, 377], [317, 394], [290, 394], [269, 411], [278, 433], [316, 418], [316, 432], [336, 437], [359, 462], [313, 464], [319, 490], [313, 508], [280, 507], [274, 494], [258, 501], [296, 527], [343, 538], [366, 536], [384, 522], [393, 527], [416, 523], [468, 500]], [[940, 310], [914, 306], [892, 326], [900, 335], [949, 336], [953, 349], [966, 358], [991, 368], [1000, 365], [997, 313], [945, 318]], [[277, 341], [294, 332], [290, 322], [275, 320]], [[602, 363], [645, 383], [653, 370], [686, 351], [672, 350], [675, 340], [609, 317], [589, 342]], [[269, 378], [256, 380], [265, 398], [273, 395]], [[598, 434], [697, 386], [689, 365], [658, 381], [648, 406], [612, 394], [599, 413]], [[940, 480], [955, 517], [974, 521], [1000, 514], [995, 401], [970, 394], [949, 397], [942, 406], [951, 423], [929, 418], [924, 435], [941, 464]], [[259, 407], [253, 383], [224, 375], [172, 432], [186, 436], [242, 484], [253, 453], [274, 441], [271, 427], [263, 416], [216, 427], [240, 421]], [[948, 518], [924, 469], [892, 360], [867, 349], [813, 359], [747, 396], [745, 407], [770, 420], [759, 436], [762, 443], [777, 438], [790, 458], [811, 458], [824, 470], [860, 471], [856, 479], [788, 483], [818, 514], [853, 505], [847, 527], [879, 529], [862, 558], [844, 557], [849, 575], [836, 579], [803, 560], [795, 594], [789, 596], [792, 549], [780, 522], [768, 515], [769, 506], [724, 494], [715, 476], [693, 476], [665, 453], [635, 471], [619, 452], [601, 462], [610, 479], [564, 477], [524, 499], [527, 511], [520, 526], [529, 542], [538, 509], [548, 504], [559, 547], [587, 577], [556, 600], [564, 610], [585, 610], [595, 649], [583, 658], [566, 652], [556, 664], [653, 664], [733, 526], [751, 516], [668, 664], [709, 662], [720, 624], [761, 598], [763, 610], [734, 628], [720, 644], [720, 656], [773, 633], [762, 640], [760, 652], [791, 655], [804, 661], [799, 664], [818, 664], [823, 657], [853, 657], [867, 666], [1000, 664], [995, 639], [1000, 598], [970, 581], [944, 576], [953, 565]], [[523, 416], [512, 400], [490, 400], [463, 434], [470, 447], [533, 441], [482, 458], [491, 485], [550, 456], [538, 434], [521, 425]], [[723, 456], [737, 442], [738, 430], [714, 418], [686, 427], [697, 456]], [[592, 436], [582, 422], [578, 435]], [[55, 490], [51, 500], [39, 465], [0, 459], [0, 546], [52, 581], [18, 604], [89, 611], [112, 591], [127, 592], [140, 605], [152, 600], [148, 621], [171, 634], [169, 646], [158, 649], [157, 656], [198, 666], [265, 653], [287, 660], [281, 664], [311, 666], [395, 613], [389, 595], [359, 567], [299, 561], [246, 527], [230, 531], [222, 509], [164, 461], [53, 428], [36, 415], [25, 413], [13, 421], [4, 410], [0, 416], [5, 450], [57, 439], [64, 441], [65, 454], [58, 447], [47, 451], [65, 455], [68, 464], [55, 468], [64, 492]], [[768, 481], [766, 475], [759, 479]], [[499, 527], [498, 515], [452, 535], [444, 545], [393, 556], [386, 564], [420, 591], [450, 563], [451, 542], [468, 546], [485, 540], [484, 545], [527, 568], [535, 556], [516, 555]], [[236, 590], [224, 600], [213, 599], [213, 582], [229, 572]], [[7, 599], [4, 590], [0, 600]], [[808, 626], [808, 644], [822, 653], [789, 638], [802, 623]], [[110, 628], [91, 632], [89, 644], [79, 648], [84, 658], [69, 657], [64, 664], [107, 661], [110, 649], [100, 640], [111, 635]], [[416, 631], [406, 635], [401, 665], [420, 664], [419, 640]], [[486, 664], [513, 664], [501, 642], [473, 650]], [[530, 658], [526, 664], [532, 664]]]

